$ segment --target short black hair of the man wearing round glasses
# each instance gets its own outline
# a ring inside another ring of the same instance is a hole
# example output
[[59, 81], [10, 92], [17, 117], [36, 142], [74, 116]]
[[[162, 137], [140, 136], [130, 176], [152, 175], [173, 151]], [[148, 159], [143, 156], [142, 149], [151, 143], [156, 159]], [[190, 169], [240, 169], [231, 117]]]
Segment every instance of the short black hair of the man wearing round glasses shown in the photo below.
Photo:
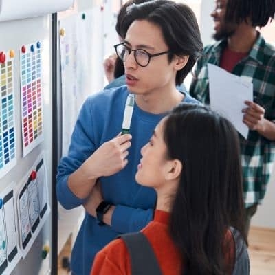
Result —
[[135, 20], [146, 20], [161, 28], [170, 51], [169, 61], [175, 55], [189, 56], [186, 66], [177, 72], [175, 83], [180, 85], [203, 51], [194, 12], [188, 5], [168, 0], [129, 5], [122, 21], [122, 37], [126, 36], [128, 28]]

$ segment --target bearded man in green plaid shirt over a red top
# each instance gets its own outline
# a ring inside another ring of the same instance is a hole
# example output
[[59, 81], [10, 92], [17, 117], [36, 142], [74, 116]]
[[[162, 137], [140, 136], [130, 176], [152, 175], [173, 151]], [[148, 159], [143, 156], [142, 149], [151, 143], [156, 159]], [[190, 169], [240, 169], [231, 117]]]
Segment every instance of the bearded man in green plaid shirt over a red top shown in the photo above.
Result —
[[216, 0], [211, 16], [218, 42], [205, 47], [190, 87], [191, 96], [209, 104], [208, 63], [253, 83], [254, 102], [246, 101], [243, 109], [243, 123], [250, 129], [248, 140], [239, 137], [246, 234], [275, 162], [275, 50], [256, 30], [274, 19], [274, 13], [274, 0]]

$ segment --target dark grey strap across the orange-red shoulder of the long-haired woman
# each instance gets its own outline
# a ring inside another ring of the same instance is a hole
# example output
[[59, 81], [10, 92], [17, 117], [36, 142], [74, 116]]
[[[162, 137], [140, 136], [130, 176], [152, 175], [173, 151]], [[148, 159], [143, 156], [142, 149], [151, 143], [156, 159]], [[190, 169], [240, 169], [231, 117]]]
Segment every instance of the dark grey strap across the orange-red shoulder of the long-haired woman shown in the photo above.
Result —
[[132, 275], [162, 275], [155, 252], [141, 232], [119, 236], [130, 254]]

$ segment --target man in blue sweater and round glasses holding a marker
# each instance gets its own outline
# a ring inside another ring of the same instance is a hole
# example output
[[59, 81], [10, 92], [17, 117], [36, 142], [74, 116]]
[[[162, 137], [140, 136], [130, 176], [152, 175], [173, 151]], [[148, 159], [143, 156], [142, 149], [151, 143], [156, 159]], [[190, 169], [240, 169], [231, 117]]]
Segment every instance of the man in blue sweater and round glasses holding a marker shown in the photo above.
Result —
[[[87, 98], [58, 167], [58, 200], [67, 209], [86, 210], [72, 251], [72, 274], [89, 274], [104, 245], [153, 219], [155, 191], [135, 182], [140, 148], [170, 109], [180, 102], [197, 104], [176, 88], [203, 50], [192, 10], [166, 0], [131, 5], [124, 28], [116, 50], [126, 86]], [[121, 135], [129, 123], [129, 134]]]

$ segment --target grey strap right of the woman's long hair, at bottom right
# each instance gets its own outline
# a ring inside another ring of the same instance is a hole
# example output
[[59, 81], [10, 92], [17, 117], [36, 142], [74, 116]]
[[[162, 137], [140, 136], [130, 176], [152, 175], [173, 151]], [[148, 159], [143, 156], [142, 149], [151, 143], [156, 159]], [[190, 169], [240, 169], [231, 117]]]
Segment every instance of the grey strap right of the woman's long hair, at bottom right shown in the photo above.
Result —
[[230, 228], [230, 231], [235, 243], [235, 263], [232, 275], [249, 275], [250, 259], [248, 256], [248, 247], [238, 230]]

